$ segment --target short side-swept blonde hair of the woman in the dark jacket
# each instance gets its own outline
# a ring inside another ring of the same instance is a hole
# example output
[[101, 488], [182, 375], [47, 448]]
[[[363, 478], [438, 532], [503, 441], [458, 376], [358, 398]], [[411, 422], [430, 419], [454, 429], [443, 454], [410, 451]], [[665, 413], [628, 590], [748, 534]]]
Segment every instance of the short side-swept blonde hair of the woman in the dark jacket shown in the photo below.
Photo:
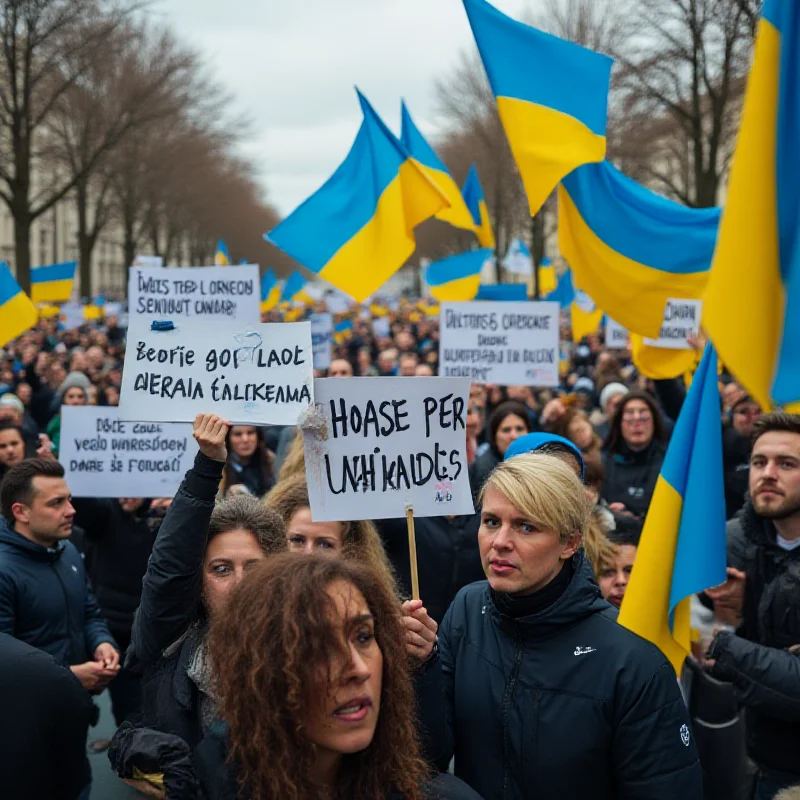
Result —
[[532, 523], [555, 531], [559, 541], [586, 533], [589, 501], [580, 478], [561, 459], [531, 453], [504, 461], [481, 490], [492, 487], [516, 506]]

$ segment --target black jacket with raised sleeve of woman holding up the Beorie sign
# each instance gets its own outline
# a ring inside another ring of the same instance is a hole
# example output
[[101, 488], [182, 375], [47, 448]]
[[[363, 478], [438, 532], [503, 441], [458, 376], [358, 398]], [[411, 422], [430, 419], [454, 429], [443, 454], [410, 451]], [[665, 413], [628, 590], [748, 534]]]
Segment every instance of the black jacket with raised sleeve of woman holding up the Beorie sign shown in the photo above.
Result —
[[223, 466], [198, 453], [167, 510], [144, 576], [125, 662], [144, 671], [143, 724], [179, 736], [190, 747], [202, 732], [199, 693], [187, 669], [203, 635], [203, 558]]

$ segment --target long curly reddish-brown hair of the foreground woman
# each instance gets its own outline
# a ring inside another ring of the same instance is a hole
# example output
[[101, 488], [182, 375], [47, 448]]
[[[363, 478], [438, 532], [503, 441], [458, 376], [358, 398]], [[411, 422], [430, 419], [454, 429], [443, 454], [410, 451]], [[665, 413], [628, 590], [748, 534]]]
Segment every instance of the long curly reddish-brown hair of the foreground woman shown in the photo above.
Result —
[[[328, 587], [343, 581], [364, 597], [383, 656], [380, 714], [362, 752], [342, 758], [332, 789], [311, 779], [315, 748], [306, 736], [319, 702], [310, 688], [331, 678], [335, 655], [349, 659]], [[252, 800], [384, 798], [421, 800], [414, 690], [400, 606], [379, 575], [344, 559], [287, 553], [253, 567], [234, 589], [209, 637], [218, 713], [228, 724], [229, 758]]]

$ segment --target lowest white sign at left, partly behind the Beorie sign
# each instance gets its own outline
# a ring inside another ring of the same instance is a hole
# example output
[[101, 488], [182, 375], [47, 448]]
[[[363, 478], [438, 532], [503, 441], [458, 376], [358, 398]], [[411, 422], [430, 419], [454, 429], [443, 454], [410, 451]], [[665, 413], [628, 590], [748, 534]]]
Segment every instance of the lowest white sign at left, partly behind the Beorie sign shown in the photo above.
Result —
[[123, 422], [110, 407], [61, 409], [58, 460], [75, 497], [172, 497], [196, 454], [184, 422]]

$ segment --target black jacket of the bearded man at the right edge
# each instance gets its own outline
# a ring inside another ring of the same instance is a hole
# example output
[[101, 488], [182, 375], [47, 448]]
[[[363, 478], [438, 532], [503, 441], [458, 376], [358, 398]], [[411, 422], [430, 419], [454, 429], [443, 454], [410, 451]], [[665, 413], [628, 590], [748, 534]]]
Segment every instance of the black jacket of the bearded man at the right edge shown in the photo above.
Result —
[[[800, 644], [800, 548], [779, 547], [775, 526], [759, 517], [748, 500], [742, 513], [728, 523], [728, 564], [747, 574], [737, 633], [763, 647], [746, 651], [735, 639], [723, 637], [720, 669], [726, 663], [731, 669], [738, 664], [753, 681], [782, 686], [786, 667], [794, 662], [780, 651]], [[758, 697], [756, 692], [748, 697], [754, 695]], [[800, 720], [787, 720], [785, 714], [775, 713], [774, 707], [758, 700], [751, 703], [745, 697], [743, 702], [750, 757], [759, 765], [800, 775]]]

